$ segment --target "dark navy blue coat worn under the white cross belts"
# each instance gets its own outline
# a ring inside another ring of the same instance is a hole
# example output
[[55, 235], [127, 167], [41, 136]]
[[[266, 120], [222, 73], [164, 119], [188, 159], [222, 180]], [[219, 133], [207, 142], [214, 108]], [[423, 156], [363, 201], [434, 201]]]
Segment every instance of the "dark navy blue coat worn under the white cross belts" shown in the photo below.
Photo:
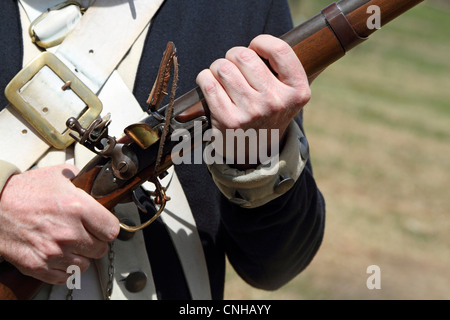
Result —
[[[1, 1], [0, 10], [3, 90], [21, 68], [22, 39], [17, 1]], [[134, 94], [145, 108], [168, 41], [177, 47], [180, 95], [192, 89], [197, 74], [229, 48], [247, 46], [262, 33], [280, 36], [291, 27], [285, 0], [167, 0], [146, 40]], [[0, 97], [0, 108], [6, 104]], [[300, 123], [301, 119], [297, 120]], [[223, 298], [225, 255], [251, 285], [276, 289], [302, 271], [317, 252], [323, 237], [325, 206], [310, 163], [292, 189], [256, 209], [243, 209], [227, 201], [205, 165], [179, 165], [176, 171], [205, 249], [214, 299]], [[145, 237], [159, 298], [190, 298], [165, 228], [158, 221], [145, 230]]]

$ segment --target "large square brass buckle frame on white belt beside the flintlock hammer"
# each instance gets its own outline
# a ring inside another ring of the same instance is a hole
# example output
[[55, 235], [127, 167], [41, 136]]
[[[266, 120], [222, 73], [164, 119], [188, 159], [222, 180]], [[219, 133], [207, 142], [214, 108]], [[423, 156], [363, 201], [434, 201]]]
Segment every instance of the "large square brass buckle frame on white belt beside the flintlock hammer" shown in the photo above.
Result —
[[[63, 83], [70, 84], [70, 89], [86, 104], [85, 110], [77, 118], [82, 126], [88, 127], [100, 115], [103, 106], [98, 97], [50, 52], [41, 53], [11, 80], [5, 89], [8, 101], [42, 138], [57, 149], [64, 149], [74, 142], [69, 135], [70, 130], [59, 132], [40, 112], [45, 106], [33, 106], [20, 94], [22, 88], [45, 66], [51, 69]], [[74, 115], [74, 117], [77, 116]]]

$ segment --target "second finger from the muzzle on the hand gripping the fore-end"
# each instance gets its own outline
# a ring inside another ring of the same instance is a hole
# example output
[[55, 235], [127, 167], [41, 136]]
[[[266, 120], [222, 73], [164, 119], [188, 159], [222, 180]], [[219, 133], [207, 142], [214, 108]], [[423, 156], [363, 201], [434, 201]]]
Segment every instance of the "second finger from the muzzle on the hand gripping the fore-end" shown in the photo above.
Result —
[[234, 47], [228, 50], [225, 57], [236, 65], [247, 83], [256, 91], [266, 91], [278, 81], [266, 63], [252, 49]]

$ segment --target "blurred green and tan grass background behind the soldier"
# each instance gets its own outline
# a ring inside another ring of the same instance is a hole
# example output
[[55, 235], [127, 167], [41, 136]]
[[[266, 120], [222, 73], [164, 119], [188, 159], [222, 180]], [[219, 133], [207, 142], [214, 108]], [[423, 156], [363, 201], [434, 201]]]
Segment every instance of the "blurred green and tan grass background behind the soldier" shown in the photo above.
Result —
[[[289, 2], [296, 25], [331, 3]], [[225, 299], [450, 299], [449, 31], [450, 2], [425, 1], [314, 81], [305, 127], [327, 203], [322, 247], [274, 292], [228, 268]]]

